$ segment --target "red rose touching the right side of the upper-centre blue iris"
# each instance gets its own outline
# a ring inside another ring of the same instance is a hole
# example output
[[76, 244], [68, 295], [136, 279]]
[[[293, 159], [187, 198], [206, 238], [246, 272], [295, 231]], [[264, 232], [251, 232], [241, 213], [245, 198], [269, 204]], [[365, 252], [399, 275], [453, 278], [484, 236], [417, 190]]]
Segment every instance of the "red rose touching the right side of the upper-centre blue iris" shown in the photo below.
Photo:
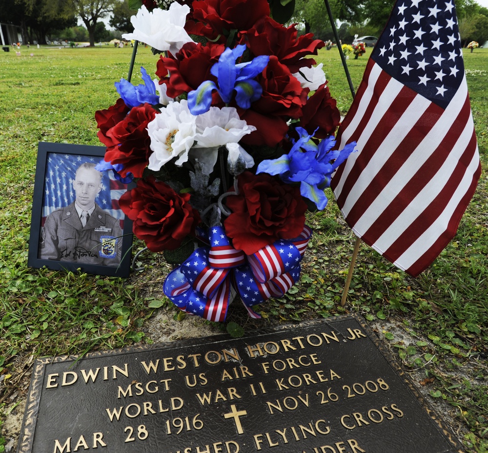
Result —
[[250, 109], [238, 109], [241, 118], [257, 128], [243, 137], [242, 142], [275, 146], [288, 131], [288, 119], [302, 115], [309, 90], [302, 88], [298, 79], [274, 55], [269, 57], [257, 81], [263, 87], [261, 98], [253, 102]]

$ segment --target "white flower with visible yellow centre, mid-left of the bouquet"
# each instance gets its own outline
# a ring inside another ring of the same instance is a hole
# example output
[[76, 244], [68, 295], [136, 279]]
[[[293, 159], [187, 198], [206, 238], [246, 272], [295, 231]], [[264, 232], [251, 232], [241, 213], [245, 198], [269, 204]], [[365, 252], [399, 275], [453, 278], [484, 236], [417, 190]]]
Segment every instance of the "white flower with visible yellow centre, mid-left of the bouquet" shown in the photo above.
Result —
[[156, 114], [147, 125], [153, 151], [149, 156], [150, 170], [158, 171], [177, 156], [176, 165], [183, 165], [188, 160], [188, 151], [195, 141], [195, 119], [185, 100], [168, 103], [161, 113]]

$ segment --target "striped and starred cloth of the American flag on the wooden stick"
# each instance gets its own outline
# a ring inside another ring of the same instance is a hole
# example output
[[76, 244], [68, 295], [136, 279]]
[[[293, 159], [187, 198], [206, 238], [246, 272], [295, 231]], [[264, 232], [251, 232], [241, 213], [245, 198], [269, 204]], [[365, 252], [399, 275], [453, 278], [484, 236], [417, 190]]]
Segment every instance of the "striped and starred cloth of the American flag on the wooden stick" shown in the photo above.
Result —
[[338, 133], [331, 187], [355, 234], [410, 275], [454, 237], [481, 174], [453, 1], [400, 0]]

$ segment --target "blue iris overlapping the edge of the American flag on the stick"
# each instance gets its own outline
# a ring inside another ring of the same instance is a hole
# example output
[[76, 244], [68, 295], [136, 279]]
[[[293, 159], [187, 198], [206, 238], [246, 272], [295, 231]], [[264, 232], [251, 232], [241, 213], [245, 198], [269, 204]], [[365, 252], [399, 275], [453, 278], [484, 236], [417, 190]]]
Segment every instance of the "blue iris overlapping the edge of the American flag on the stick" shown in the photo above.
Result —
[[317, 145], [304, 128], [297, 127], [296, 130], [300, 138], [292, 141], [290, 152], [278, 159], [261, 162], [256, 174], [280, 175], [285, 183], [300, 183], [302, 196], [315, 203], [318, 209], [324, 209], [327, 205], [324, 189], [330, 185], [334, 170], [356, 151], [356, 142], [346, 144], [340, 151], [332, 150], [336, 144], [334, 137], [329, 136]]

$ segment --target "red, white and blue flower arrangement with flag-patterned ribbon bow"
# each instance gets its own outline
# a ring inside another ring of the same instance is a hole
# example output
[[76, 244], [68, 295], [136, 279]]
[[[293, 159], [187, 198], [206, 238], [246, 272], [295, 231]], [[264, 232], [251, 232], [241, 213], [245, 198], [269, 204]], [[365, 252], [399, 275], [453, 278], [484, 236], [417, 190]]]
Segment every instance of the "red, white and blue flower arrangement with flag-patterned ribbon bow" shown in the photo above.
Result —
[[120, 98], [95, 114], [98, 168], [136, 182], [119, 203], [178, 264], [164, 282], [175, 305], [224, 321], [238, 295], [258, 318], [253, 306], [298, 281], [305, 211], [325, 207], [355, 146], [337, 149], [340, 114], [309, 58], [325, 44], [275, 21], [267, 0], [145, 0], [131, 21], [123, 37], [160, 54], [157, 79], [141, 68], [142, 84], [115, 83]]

